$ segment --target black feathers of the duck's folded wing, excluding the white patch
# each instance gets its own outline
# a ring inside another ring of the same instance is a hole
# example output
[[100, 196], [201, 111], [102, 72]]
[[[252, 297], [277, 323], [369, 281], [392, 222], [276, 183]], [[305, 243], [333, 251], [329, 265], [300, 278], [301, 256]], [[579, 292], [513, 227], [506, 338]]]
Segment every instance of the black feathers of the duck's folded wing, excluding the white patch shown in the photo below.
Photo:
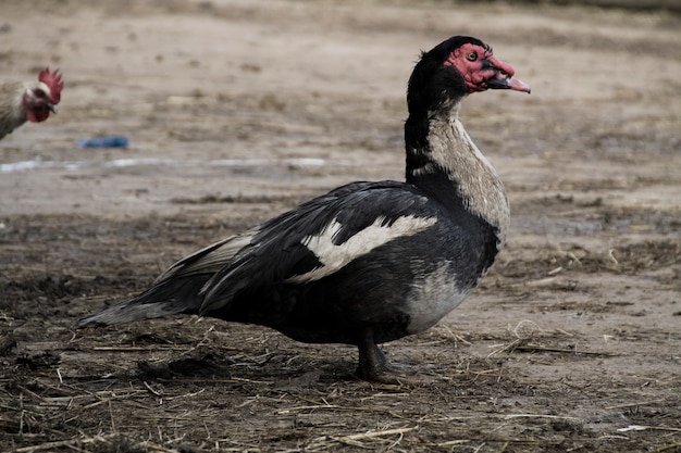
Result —
[[426, 216], [428, 203], [413, 186], [397, 181], [352, 183], [310, 200], [258, 228], [251, 246], [208, 281], [200, 312], [223, 310], [242, 291], [284, 285], [292, 277], [320, 267], [322, 263], [302, 241], [322, 232], [334, 219], [342, 224], [333, 238], [337, 246], [379, 217], [391, 225], [400, 216], [420, 212]]

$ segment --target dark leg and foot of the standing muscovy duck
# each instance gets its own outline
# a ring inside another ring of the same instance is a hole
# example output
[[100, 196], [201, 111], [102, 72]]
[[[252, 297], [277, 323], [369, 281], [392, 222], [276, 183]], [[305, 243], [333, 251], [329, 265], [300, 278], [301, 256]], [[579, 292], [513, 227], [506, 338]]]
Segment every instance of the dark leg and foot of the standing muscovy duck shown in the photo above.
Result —
[[357, 375], [364, 380], [400, 383], [405, 380], [405, 375], [412, 373], [405, 365], [396, 365], [387, 361], [383, 351], [376, 345], [371, 328], [362, 332], [357, 347], [359, 349]]

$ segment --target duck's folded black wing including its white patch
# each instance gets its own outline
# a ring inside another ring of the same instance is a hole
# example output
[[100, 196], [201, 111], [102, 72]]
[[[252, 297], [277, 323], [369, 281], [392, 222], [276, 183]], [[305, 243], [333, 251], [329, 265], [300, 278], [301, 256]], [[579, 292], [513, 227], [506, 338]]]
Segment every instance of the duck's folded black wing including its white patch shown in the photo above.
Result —
[[250, 231], [249, 243], [206, 282], [200, 313], [226, 307], [242, 291], [330, 276], [434, 225], [428, 204], [412, 186], [395, 181], [355, 183], [304, 203]]

